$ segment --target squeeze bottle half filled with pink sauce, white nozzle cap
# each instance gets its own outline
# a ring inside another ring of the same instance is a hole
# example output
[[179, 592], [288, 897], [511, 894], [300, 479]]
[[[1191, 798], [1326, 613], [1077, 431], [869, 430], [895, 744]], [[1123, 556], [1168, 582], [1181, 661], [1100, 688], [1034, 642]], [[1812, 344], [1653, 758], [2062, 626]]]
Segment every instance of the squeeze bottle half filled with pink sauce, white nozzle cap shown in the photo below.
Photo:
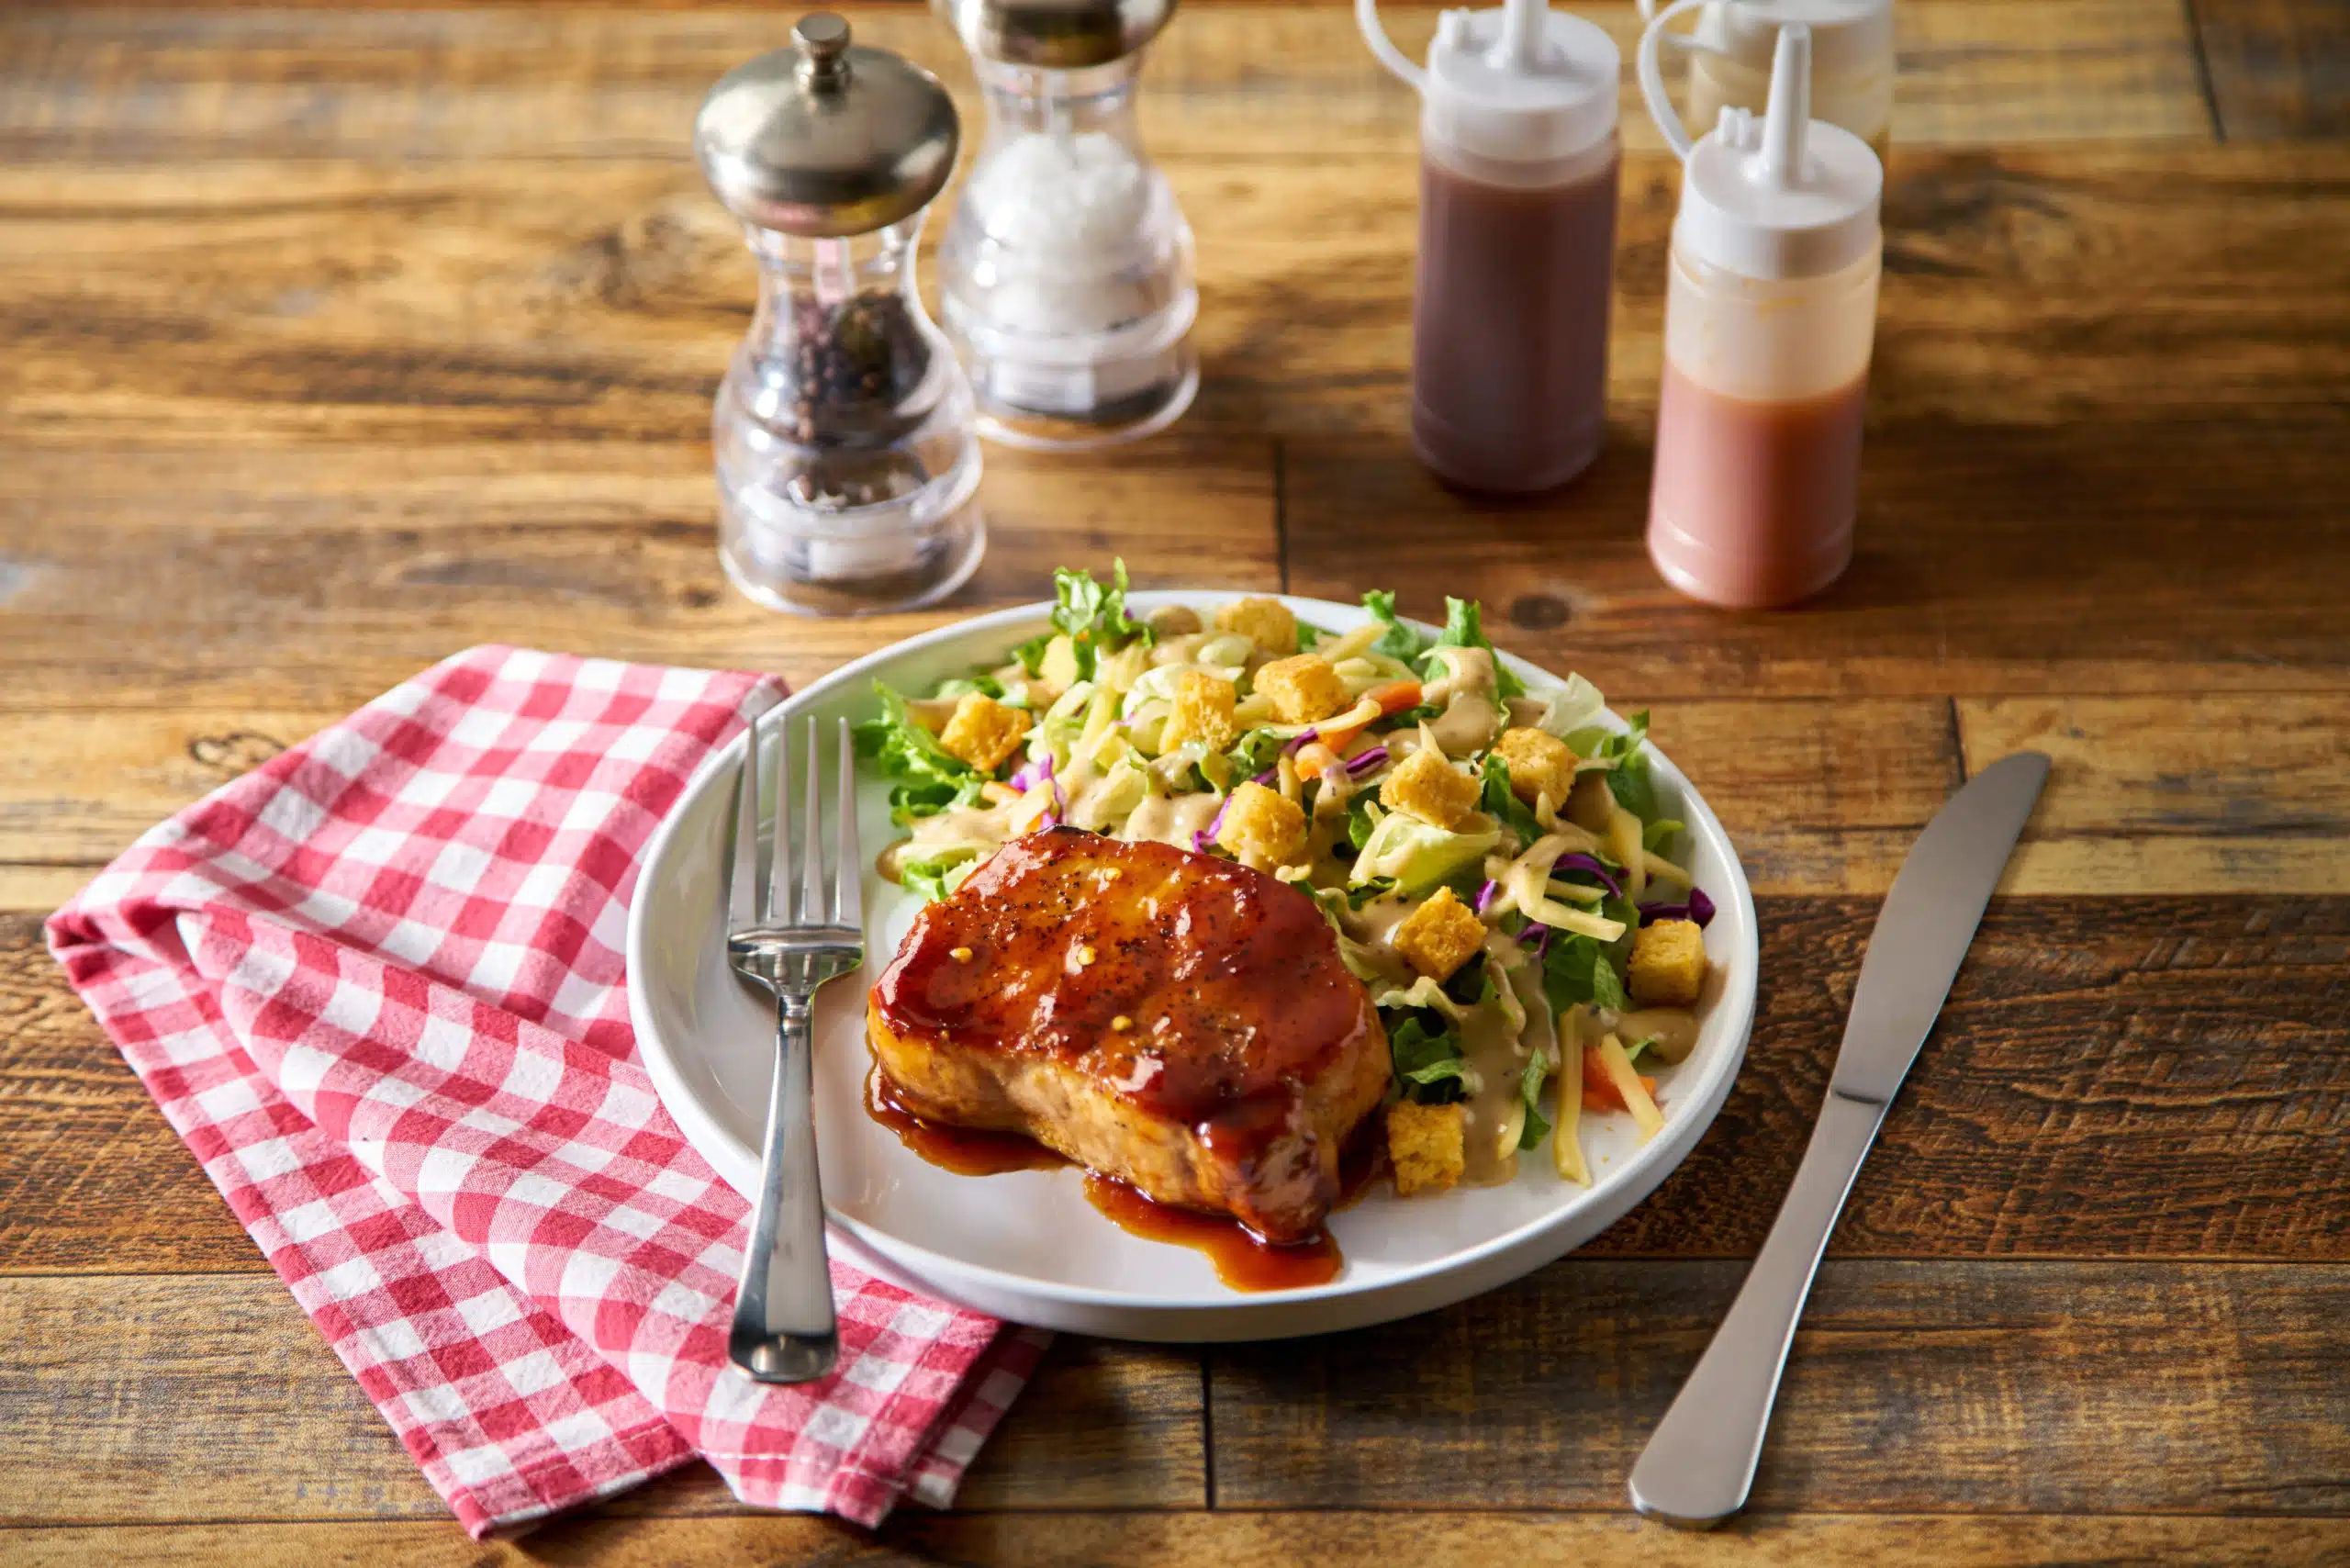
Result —
[[1765, 609], [1852, 564], [1885, 172], [1866, 141], [1810, 118], [1802, 24], [1779, 28], [1762, 118], [1725, 108], [1692, 146], [1657, 38], [1699, 2], [1640, 38], [1640, 92], [1685, 165], [1647, 552], [1692, 599]]

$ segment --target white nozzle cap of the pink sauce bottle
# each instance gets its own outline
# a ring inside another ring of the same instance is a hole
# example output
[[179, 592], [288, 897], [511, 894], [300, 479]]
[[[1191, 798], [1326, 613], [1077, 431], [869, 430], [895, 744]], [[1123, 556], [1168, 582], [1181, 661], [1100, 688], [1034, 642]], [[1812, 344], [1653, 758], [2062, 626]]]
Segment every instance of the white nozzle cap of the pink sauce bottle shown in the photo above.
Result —
[[[1885, 169], [1866, 141], [1810, 118], [1810, 47], [1800, 21], [1779, 28], [1762, 118], [1725, 108], [1720, 122], [1690, 146], [1680, 216], [1673, 219], [1676, 249], [1741, 277], [1767, 280], [1819, 277], [1878, 249]], [[1645, 87], [1652, 68], [1645, 45], [1640, 63]], [[1650, 110], [1659, 96], [1650, 94]], [[1680, 132], [1678, 122], [1666, 139], [1680, 146], [1673, 132]]]

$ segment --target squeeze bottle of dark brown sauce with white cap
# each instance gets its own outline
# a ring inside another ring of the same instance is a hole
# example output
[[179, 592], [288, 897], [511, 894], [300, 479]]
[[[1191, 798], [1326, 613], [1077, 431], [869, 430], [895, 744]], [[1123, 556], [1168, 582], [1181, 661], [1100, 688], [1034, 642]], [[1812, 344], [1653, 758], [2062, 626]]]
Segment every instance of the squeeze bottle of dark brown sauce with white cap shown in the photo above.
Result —
[[1412, 444], [1485, 491], [1565, 484], [1607, 423], [1614, 40], [1542, 0], [1452, 9], [1415, 66], [1356, 0], [1372, 54], [1419, 89]]

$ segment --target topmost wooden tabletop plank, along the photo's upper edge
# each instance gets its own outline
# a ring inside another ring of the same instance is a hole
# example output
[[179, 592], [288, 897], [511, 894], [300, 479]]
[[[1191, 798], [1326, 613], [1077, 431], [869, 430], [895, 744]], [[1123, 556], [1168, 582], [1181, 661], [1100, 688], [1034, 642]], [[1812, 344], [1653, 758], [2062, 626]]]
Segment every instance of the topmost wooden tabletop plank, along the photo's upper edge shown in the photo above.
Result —
[[[1638, 16], [1622, 5], [1572, 9], [1617, 38], [1631, 87]], [[945, 26], [909, 5], [846, 12], [862, 42], [935, 71], [964, 125], [978, 125], [971, 66]], [[1382, 14], [1408, 52], [1424, 52], [1436, 7]], [[56, 7], [0, 26], [9, 162], [682, 160], [710, 82], [785, 38], [757, 7], [132, 16]], [[1899, 146], [2209, 136], [2176, 5], [1908, 0], [1899, 28]], [[1410, 162], [1415, 127], [1410, 92], [1370, 59], [1344, 5], [1187, 5], [1152, 49], [1142, 132], [1161, 155], [1262, 160], [1337, 129]], [[1624, 101], [1624, 136], [1661, 146], [1638, 92]]]

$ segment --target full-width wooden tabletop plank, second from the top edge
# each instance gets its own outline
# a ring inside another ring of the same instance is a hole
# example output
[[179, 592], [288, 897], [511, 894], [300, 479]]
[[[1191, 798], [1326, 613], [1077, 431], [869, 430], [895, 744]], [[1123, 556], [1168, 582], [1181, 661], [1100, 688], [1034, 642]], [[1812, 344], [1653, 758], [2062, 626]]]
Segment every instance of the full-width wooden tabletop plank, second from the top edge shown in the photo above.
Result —
[[[1401, 435], [1415, 162], [1340, 120], [1314, 158], [1184, 148], [1166, 165], [1206, 280], [1203, 393], [1166, 442]], [[1629, 430], [1654, 407], [1673, 167], [1633, 155], [1624, 172], [1612, 400]], [[2063, 484], [2214, 404], [2338, 414], [2345, 207], [2343, 148], [1901, 158], [1875, 423]], [[5, 169], [12, 440], [660, 442], [656, 473], [684, 475], [752, 296], [721, 219], [677, 160]], [[2016, 428], [2073, 440], [2035, 454]], [[2287, 501], [2247, 463], [2223, 515]]]

